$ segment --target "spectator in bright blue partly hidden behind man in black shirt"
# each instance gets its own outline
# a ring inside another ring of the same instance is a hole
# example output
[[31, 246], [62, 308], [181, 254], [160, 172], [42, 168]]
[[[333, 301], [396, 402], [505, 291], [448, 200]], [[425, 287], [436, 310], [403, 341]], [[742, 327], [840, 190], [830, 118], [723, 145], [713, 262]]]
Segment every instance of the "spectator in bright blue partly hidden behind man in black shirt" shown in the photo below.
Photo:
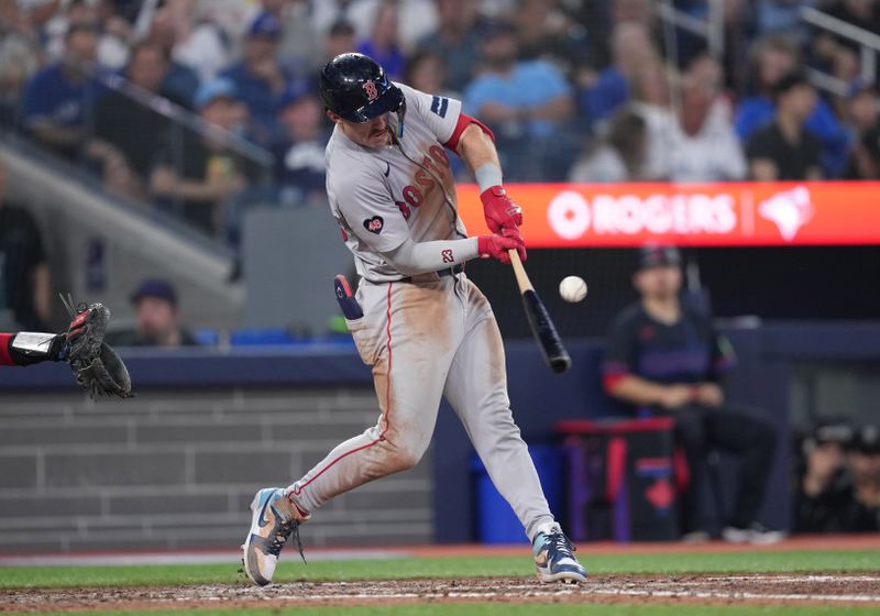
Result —
[[[784, 36], [758, 40], [751, 48], [756, 94], [739, 101], [734, 124], [743, 143], [773, 120], [773, 98], [779, 81], [798, 69], [798, 46]], [[849, 135], [824, 100], [815, 102], [805, 129], [822, 143], [822, 167], [826, 177], [837, 177], [846, 165]]]

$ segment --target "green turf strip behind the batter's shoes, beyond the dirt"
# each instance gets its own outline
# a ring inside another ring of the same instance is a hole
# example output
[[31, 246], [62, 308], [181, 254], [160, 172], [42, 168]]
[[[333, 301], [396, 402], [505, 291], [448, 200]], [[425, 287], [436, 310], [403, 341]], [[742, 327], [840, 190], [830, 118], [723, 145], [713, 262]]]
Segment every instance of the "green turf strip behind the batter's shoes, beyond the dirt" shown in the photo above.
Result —
[[[877, 572], [880, 553], [849, 551], [749, 551], [692, 554], [580, 553], [593, 576], [615, 573], [757, 573], [757, 572]], [[135, 586], [235, 583], [238, 563], [145, 566], [21, 566], [0, 568], [0, 588]], [[308, 565], [287, 559], [275, 572], [276, 582], [389, 580], [405, 578], [531, 576], [528, 553], [521, 557], [319, 561]]]

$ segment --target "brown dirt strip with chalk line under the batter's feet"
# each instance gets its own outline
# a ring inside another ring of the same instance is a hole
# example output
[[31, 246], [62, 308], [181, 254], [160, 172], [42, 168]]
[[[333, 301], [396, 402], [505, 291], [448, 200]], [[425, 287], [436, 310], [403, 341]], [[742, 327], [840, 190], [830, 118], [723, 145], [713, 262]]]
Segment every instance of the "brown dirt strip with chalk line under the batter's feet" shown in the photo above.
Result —
[[301, 582], [0, 591], [0, 612], [353, 606], [438, 602], [862, 605], [880, 608], [880, 575], [607, 575], [572, 586], [531, 579]]

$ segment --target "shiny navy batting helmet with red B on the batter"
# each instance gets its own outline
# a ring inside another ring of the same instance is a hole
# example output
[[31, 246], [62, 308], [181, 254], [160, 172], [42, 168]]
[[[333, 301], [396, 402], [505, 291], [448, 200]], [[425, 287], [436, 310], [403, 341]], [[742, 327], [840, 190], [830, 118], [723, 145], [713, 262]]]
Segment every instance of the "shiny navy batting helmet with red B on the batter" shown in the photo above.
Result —
[[350, 122], [369, 122], [388, 111], [400, 111], [404, 92], [388, 81], [385, 70], [363, 54], [341, 54], [321, 69], [324, 107]]

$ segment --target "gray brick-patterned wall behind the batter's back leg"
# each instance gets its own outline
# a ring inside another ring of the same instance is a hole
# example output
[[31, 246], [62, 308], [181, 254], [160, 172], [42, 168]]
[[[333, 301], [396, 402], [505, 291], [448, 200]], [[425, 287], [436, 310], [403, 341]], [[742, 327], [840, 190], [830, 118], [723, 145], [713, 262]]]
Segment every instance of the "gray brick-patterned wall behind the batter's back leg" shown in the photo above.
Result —
[[[0, 552], [238, 548], [248, 505], [375, 422], [372, 389], [0, 398]], [[433, 538], [431, 454], [319, 510], [307, 546]]]

